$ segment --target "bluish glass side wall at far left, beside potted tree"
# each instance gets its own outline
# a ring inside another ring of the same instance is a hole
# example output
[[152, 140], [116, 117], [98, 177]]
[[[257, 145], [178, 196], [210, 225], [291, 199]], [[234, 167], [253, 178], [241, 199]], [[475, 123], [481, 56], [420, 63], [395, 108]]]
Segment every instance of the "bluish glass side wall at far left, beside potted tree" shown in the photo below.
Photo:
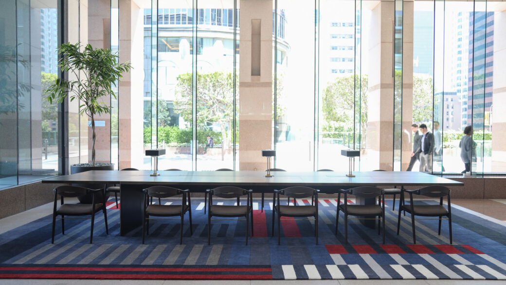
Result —
[[0, 12], [0, 188], [61, 172], [59, 106], [46, 90], [59, 76], [58, 4], [8, 1]]

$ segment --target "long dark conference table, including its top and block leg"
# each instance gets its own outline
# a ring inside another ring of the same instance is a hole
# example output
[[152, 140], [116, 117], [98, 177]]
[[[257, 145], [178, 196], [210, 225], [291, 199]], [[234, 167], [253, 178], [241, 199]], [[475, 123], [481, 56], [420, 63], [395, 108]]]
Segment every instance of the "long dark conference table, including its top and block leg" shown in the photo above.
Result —
[[355, 177], [347, 172], [272, 172], [265, 177], [263, 171], [159, 171], [150, 176], [149, 170], [92, 170], [45, 179], [43, 183], [119, 184], [121, 196], [120, 233], [124, 235], [142, 224], [142, 189], [153, 185], [165, 185], [191, 192], [204, 192], [219, 186], [237, 186], [252, 189], [254, 193], [272, 193], [274, 189], [290, 186], [308, 186], [322, 193], [335, 193], [340, 188], [357, 186], [463, 186], [463, 183], [411, 171], [357, 171]]

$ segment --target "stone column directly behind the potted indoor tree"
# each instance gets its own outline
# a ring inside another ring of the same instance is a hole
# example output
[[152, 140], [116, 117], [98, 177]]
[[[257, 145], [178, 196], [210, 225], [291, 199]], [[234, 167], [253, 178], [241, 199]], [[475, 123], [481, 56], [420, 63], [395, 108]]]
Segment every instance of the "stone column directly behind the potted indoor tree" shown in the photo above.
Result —
[[[81, 25], [84, 23], [81, 15]], [[88, 1], [88, 43], [93, 48], [111, 48], [111, 2], [110, 0]], [[81, 34], [82, 35], [82, 34]], [[86, 44], [85, 44], [86, 45]], [[100, 101], [110, 105], [110, 96], [100, 98]], [[81, 129], [88, 128], [88, 160], [92, 159], [92, 127], [87, 127], [90, 118], [81, 121]], [[110, 114], [95, 115], [95, 160], [96, 162], [111, 162], [111, 116]], [[84, 123], [84, 125], [83, 125]], [[105, 126], [102, 126], [102, 124]], [[98, 126], [97, 126], [98, 125]]]

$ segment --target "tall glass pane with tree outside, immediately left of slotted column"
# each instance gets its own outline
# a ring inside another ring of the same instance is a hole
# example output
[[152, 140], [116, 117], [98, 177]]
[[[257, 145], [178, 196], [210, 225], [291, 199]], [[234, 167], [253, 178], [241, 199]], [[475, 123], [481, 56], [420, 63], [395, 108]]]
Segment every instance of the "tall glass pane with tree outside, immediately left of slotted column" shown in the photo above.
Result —
[[[234, 168], [235, 106], [239, 100], [238, 39], [239, 7], [235, 1], [198, 3], [196, 62], [196, 128], [198, 170]], [[235, 8], [235, 10], [234, 10]], [[236, 25], [234, 26], [234, 22]], [[194, 75], [195, 76], [195, 75]], [[187, 86], [192, 75], [181, 75], [177, 83], [177, 110], [192, 99]], [[190, 120], [187, 110], [183, 119]]]

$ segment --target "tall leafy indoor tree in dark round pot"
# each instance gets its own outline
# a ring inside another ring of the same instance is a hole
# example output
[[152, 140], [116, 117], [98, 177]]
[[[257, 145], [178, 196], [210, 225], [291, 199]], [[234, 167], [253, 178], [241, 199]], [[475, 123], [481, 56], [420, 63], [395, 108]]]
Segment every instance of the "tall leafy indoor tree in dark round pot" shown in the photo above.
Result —
[[[82, 50], [82, 51], [81, 51]], [[108, 114], [111, 106], [101, 102], [100, 98], [111, 95], [116, 98], [113, 87], [122, 74], [132, 69], [130, 63], [119, 63], [118, 54], [110, 49], [94, 49], [91, 45], [81, 48], [80, 43], [62, 44], [58, 47], [60, 60], [58, 66], [63, 72], [72, 74], [76, 79], [56, 79], [46, 91], [49, 102], [79, 101], [79, 114], [86, 114], [92, 127], [92, 158], [90, 163], [70, 166], [70, 173], [88, 170], [114, 169], [112, 163], [95, 161], [95, 116]], [[82, 201], [81, 201], [82, 202]]]

